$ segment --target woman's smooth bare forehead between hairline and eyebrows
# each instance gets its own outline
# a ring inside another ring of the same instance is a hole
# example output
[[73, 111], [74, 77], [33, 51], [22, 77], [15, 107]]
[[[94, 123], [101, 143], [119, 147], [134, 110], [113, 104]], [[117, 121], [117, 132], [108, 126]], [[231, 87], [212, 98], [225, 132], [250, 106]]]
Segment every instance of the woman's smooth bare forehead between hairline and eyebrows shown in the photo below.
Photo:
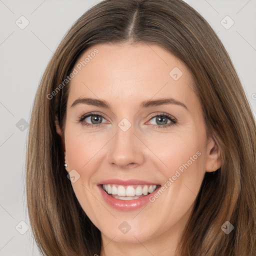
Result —
[[96, 44], [79, 57], [74, 68], [69, 105], [88, 95], [122, 102], [165, 96], [191, 101], [193, 93], [187, 67], [155, 44]]

